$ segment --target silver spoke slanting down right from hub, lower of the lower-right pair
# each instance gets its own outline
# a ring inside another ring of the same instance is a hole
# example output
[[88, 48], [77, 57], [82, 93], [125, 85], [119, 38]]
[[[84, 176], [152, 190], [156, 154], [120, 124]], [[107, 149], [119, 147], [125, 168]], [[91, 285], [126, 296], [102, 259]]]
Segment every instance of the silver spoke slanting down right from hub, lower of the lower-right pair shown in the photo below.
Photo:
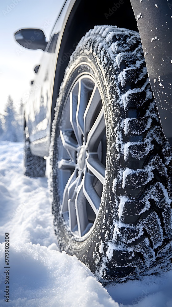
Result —
[[93, 180], [94, 180], [94, 175], [85, 172], [83, 192], [90, 206], [92, 207], [93, 211], [97, 216], [101, 199], [94, 189]]

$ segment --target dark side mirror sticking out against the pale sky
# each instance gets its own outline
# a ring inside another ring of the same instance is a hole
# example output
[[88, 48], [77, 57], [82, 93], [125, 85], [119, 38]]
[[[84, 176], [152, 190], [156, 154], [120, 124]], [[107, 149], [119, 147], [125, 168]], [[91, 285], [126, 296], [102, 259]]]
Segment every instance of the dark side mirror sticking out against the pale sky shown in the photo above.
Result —
[[45, 50], [47, 46], [46, 37], [40, 29], [21, 29], [14, 33], [15, 40], [28, 49]]

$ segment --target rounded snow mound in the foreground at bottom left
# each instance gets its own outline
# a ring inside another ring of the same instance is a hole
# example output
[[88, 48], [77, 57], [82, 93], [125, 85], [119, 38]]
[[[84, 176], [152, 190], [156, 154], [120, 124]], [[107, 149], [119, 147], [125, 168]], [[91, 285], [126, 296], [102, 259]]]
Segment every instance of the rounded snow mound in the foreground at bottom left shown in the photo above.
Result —
[[[0, 246], [1, 271], [4, 250], [3, 243]], [[50, 250], [39, 244], [11, 244], [9, 271], [8, 306], [119, 306], [91, 271], [76, 256], [71, 257], [65, 252]], [[1, 298], [5, 290], [2, 275]], [[2, 298], [0, 306], [6, 304]]]

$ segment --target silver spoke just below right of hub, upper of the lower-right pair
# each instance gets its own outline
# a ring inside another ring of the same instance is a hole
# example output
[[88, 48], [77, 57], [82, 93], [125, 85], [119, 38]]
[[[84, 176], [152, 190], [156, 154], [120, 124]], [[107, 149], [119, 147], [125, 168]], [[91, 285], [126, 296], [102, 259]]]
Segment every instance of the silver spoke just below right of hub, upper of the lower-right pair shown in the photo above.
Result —
[[88, 169], [100, 180], [104, 185], [105, 166], [98, 160], [97, 154], [89, 154], [86, 159]]

